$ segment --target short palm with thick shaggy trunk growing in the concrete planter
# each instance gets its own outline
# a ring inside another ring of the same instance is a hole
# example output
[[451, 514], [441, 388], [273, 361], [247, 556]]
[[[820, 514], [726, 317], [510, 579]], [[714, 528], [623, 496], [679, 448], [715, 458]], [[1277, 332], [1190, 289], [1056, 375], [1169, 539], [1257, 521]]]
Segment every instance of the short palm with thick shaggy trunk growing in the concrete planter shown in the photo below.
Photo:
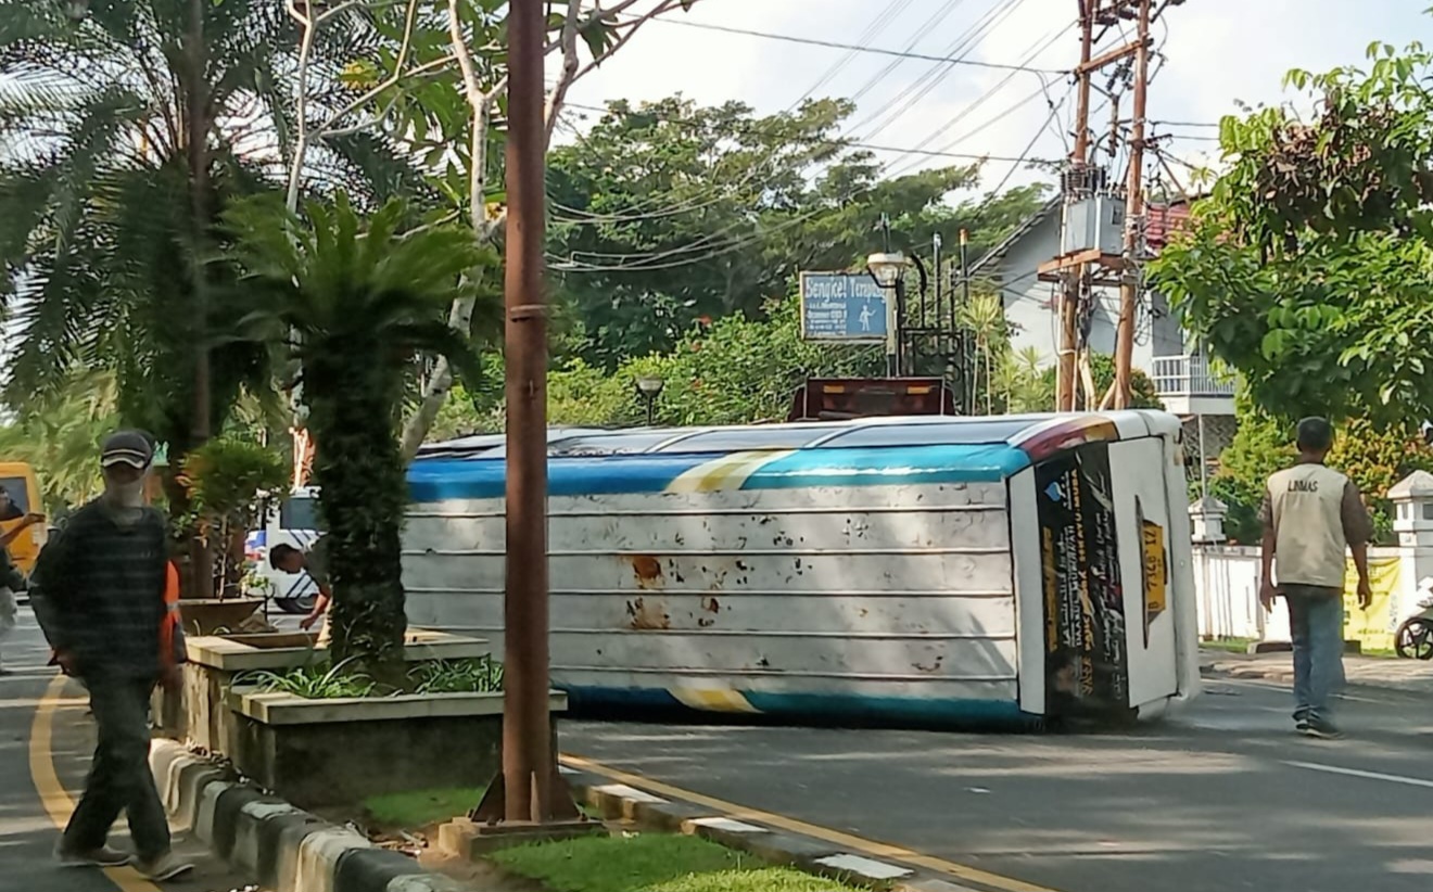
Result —
[[[398, 199], [367, 228], [347, 196], [332, 210], [307, 206], [307, 222], [277, 200], [231, 210], [232, 262], [244, 269], [246, 312], [235, 331], [258, 344], [288, 342], [302, 367], [314, 434], [314, 484], [332, 556], [332, 653], [357, 672], [400, 682], [404, 596], [400, 527], [407, 503], [398, 425], [414, 357], [430, 351], [471, 372], [477, 351], [449, 328], [446, 308], [473, 271], [497, 265], [471, 232], [434, 226], [400, 235]], [[480, 292], [479, 296], [481, 296]], [[477, 318], [496, 331], [502, 305]]]

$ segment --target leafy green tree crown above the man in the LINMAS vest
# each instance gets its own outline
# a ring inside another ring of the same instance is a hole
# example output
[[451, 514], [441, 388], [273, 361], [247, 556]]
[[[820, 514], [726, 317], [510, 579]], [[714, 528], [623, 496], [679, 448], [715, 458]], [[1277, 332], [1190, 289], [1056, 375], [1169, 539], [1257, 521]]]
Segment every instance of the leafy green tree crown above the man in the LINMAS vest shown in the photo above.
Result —
[[1293, 72], [1318, 99], [1227, 117], [1231, 162], [1151, 265], [1212, 354], [1283, 418], [1433, 415], [1433, 54]]

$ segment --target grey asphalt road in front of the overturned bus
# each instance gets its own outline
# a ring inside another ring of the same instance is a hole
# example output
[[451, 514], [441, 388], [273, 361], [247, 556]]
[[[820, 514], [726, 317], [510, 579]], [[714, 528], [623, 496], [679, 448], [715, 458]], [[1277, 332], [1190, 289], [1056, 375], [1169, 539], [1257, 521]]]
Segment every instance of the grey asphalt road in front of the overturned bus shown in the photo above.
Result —
[[[566, 753], [1059, 892], [1426, 892], [1433, 703], [1357, 693], [1350, 735], [1288, 693], [1208, 682], [1113, 735], [565, 722]], [[1013, 883], [1010, 888], [1016, 888]]]

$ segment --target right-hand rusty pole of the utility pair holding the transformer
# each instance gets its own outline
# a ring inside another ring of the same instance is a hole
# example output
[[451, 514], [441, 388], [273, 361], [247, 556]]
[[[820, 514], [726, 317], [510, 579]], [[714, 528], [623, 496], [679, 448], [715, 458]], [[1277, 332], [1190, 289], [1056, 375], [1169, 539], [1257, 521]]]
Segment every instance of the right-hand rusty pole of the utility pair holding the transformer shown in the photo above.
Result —
[[1115, 408], [1129, 408], [1135, 358], [1135, 314], [1139, 305], [1145, 218], [1145, 106], [1149, 93], [1149, 6], [1139, 0], [1135, 37], [1135, 119], [1129, 133], [1129, 183], [1125, 188], [1125, 262], [1119, 283], [1119, 328], [1115, 332]]

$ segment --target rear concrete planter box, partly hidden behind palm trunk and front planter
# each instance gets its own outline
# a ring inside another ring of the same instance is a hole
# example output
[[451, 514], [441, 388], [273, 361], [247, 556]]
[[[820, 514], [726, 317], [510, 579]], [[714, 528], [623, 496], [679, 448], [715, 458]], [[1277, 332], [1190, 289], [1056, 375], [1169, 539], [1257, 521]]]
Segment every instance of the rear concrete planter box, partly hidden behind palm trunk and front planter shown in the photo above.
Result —
[[[235, 713], [226, 697], [234, 679], [246, 672], [285, 672], [321, 663], [328, 657], [317, 647], [317, 633], [234, 634], [186, 639], [189, 661], [183, 667], [183, 689], [178, 696], [156, 692], [153, 716], [158, 732], [172, 740], [209, 753], [222, 753], [235, 736]], [[490, 653], [483, 639], [443, 631], [410, 629], [404, 656], [410, 663], [464, 660]]]

